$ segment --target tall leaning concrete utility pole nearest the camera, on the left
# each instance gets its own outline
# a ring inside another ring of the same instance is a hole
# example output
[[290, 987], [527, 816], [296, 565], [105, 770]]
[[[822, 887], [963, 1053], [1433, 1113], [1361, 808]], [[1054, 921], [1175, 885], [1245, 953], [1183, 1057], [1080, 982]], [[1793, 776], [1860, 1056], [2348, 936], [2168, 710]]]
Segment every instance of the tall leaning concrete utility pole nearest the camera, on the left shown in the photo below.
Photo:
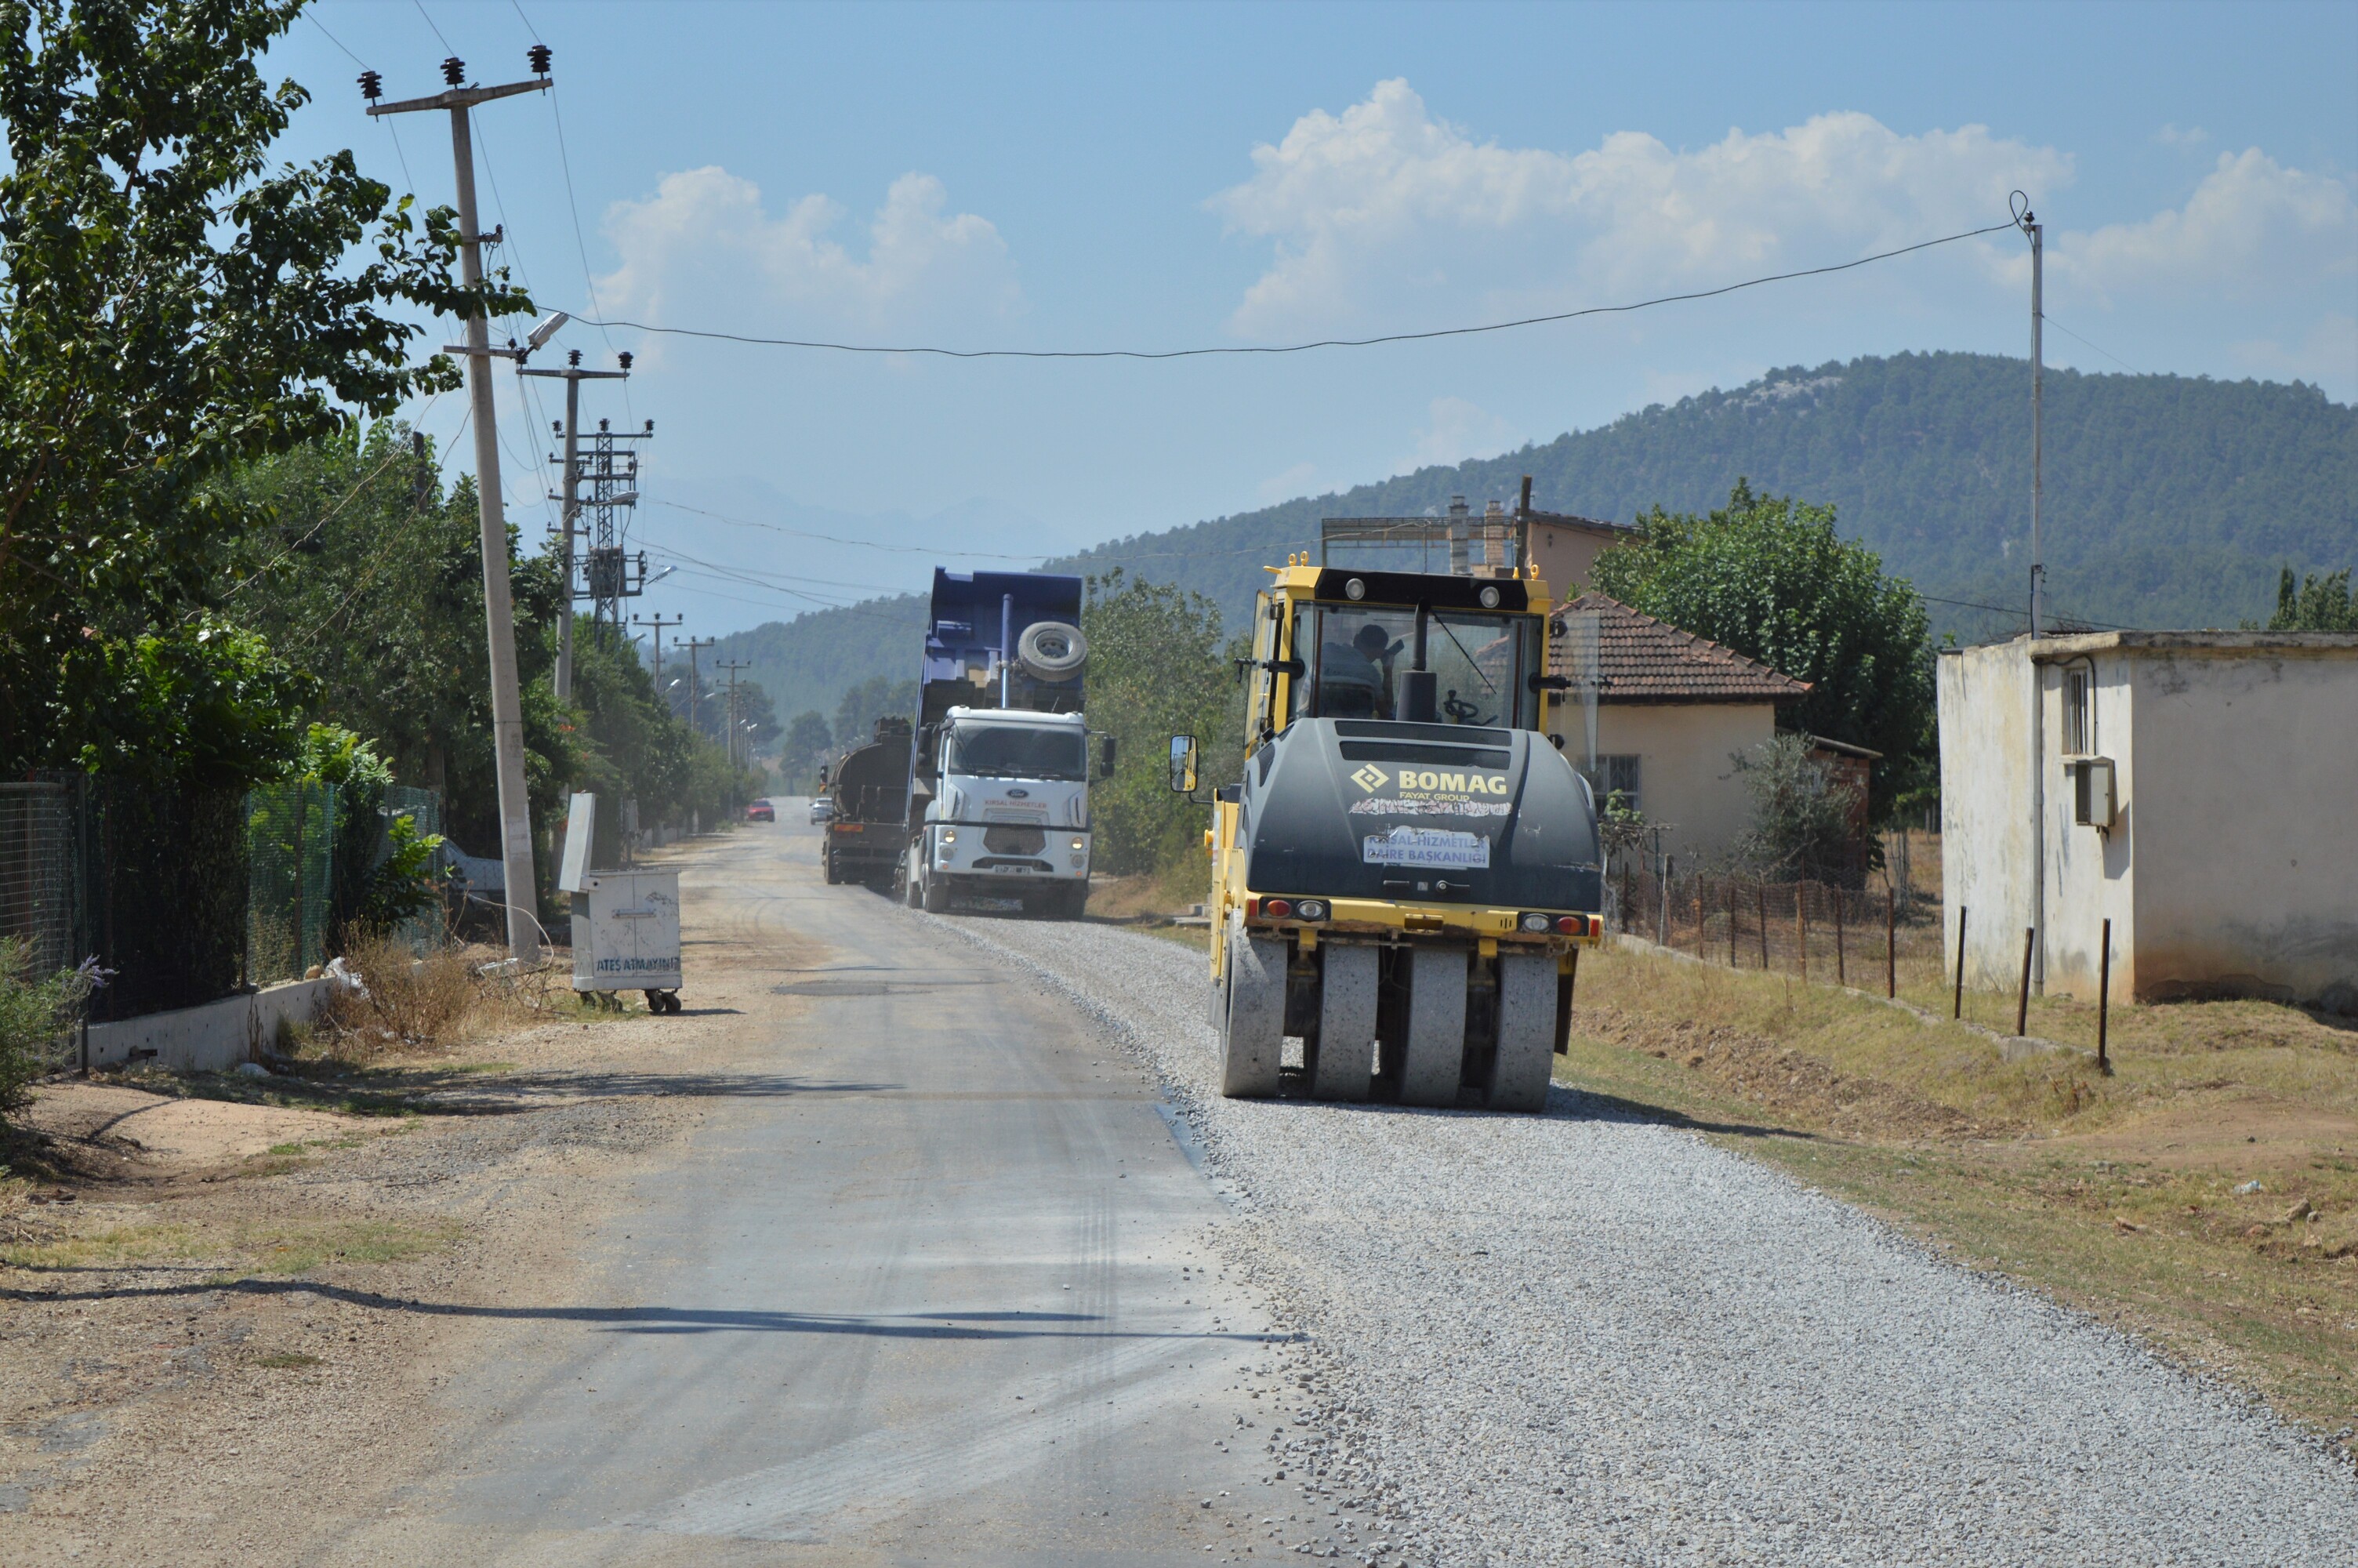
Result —
[[[380, 80], [375, 71], [361, 73], [361, 94], [370, 99], [368, 113], [417, 113], [424, 108], [450, 111], [450, 160], [457, 170], [457, 226], [460, 226], [460, 276], [467, 288], [483, 285], [483, 233], [474, 212], [474, 132], [467, 111], [490, 99], [516, 97], [519, 92], [549, 90], [549, 47], [533, 45], [526, 52], [538, 80], [507, 83], [502, 87], [467, 87], [467, 61], [455, 54], [443, 61], [448, 92], [432, 99], [403, 99], [377, 104]], [[549, 328], [554, 330], [554, 328]], [[538, 347], [538, 344], [535, 344]], [[516, 611], [507, 592], [507, 514], [500, 505], [500, 431], [490, 396], [490, 358], [521, 361], [528, 349], [490, 347], [490, 321], [474, 311], [467, 316], [467, 344], [446, 349], [467, 356], [467, 396], [474, 403], [474, 486], [483, 523], [483, 630], [490, 644], [490, 736], [500, 780], [500, 868], [507, 882], [507, 953], [519, 967], [540, 964], [540, 879], [533, 875], [533, 818], [523, 792], [523, 698], [516, 691]]]

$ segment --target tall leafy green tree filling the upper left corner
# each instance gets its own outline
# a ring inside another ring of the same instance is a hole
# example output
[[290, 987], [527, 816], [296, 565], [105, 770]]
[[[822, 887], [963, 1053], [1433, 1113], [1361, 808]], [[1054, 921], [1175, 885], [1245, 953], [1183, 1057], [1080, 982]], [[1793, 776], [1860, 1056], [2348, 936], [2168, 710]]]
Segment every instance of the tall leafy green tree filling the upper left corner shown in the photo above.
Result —
[[531, 309], [460, 288], [453, 215], [349, 151], [269, 167], [307, 94], [259, 57], [297, 12], [0, 2], [0, 773], [281, 773], [299, 686], [208, 613], [269, 519], [212, 481], [455, 387], [415, 311]]

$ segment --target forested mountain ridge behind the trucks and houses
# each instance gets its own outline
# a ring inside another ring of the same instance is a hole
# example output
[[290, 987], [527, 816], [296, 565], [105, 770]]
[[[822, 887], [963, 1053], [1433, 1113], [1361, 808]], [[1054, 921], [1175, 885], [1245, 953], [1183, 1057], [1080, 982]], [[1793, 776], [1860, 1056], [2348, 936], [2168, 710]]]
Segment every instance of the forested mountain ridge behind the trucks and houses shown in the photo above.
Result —
[[[2030, 365], [1988, 354], [1771, 370], [1502, 457], [1111, 540], [1047, 568], [1120, 566], [1179, 582], [1212, 597], [1233, 625], [1264, 564], [1316, 547], [1320, 516], [1424, 514], [1453, 495], [1476, 512], [1486, 500], [1511, 507], [1523, 474], [1537, 507], [1613, 521], [1653, 505], [1700, 512], [1750, 476], [1759, 490], [1832, 502], [1846, 535], [1934, 599], [1938, 630], [1983, 639], [2021, 627], [2004, 608], [1969, 608], [2021, 604], [2028, 573]], [[1007, 549], [1002, 540], [1021, 528], [993, 521], [1002, 526], [988, 528], [988, 545], [938, 526], [924, 538]], [[2066, 618], [2139, 627], [2264, 620], [2283, 566], [2358, 564], [2358, 410], [2299, 382], [2049, 370], [2042, 535], [2051, 604]], [[903, 679], [920, 620], [922, 601], [896, 594], [738, 632], [714, 653], [752, 660], [747, 674], [769, 689], [780, 717], [828, 712], [858, 679]]]

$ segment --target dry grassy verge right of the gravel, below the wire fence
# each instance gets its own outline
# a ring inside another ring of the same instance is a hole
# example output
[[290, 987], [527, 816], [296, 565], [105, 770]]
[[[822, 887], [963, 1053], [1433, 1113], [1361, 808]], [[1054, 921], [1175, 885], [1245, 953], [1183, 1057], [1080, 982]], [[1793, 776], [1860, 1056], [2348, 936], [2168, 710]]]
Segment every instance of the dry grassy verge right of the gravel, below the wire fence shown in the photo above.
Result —
[[1639, 953], [1582, 955], [1575, 1002], [1566, 1085], [1695, 1125], [2351, 1443], [2351, 1030], [2266, 1002], [2117, 1007], [2106, 1078]]

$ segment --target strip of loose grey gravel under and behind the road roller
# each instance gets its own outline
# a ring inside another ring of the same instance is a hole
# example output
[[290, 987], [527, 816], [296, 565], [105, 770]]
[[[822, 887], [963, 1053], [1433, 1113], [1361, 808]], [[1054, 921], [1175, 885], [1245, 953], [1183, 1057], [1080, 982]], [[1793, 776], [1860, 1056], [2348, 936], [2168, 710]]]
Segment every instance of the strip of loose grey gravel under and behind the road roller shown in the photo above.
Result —
[[938, 924], [1141, 1054], [1252, 1219], [1231, 1271], [1306, 1337], [1273, 1460], [1323, 1528], [1295, 1551], [2358, 1559], [2358, 1483], [2320, 1443], [1778, 1172], [1561, 1085], [1542, 1118], [1219, 1099], [1198, 955]]

